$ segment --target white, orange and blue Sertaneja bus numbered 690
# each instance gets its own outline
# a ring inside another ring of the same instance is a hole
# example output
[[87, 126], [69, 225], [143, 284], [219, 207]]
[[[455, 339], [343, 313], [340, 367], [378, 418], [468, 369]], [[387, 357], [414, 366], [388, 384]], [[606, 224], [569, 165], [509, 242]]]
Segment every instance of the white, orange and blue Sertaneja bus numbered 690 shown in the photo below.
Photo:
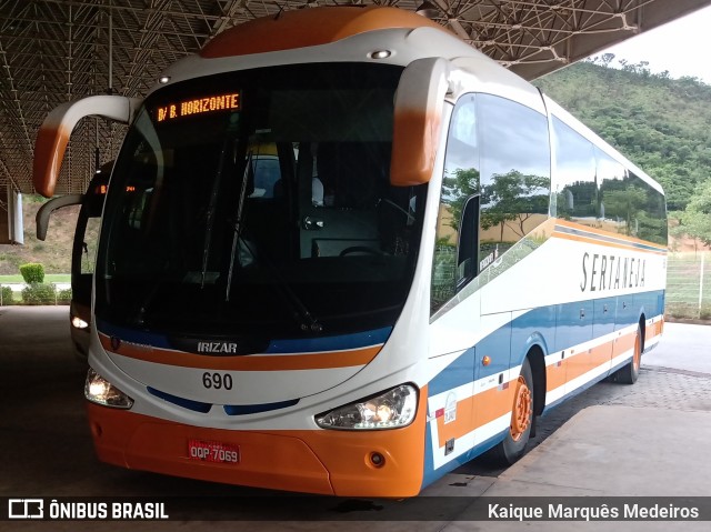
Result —
[[99, 458], [260, 488], [409, 496], [663, 324], [661, 188], [535, 88], [394, 8], [238, 26], [144, 100], [106, 199], [86, 384]]

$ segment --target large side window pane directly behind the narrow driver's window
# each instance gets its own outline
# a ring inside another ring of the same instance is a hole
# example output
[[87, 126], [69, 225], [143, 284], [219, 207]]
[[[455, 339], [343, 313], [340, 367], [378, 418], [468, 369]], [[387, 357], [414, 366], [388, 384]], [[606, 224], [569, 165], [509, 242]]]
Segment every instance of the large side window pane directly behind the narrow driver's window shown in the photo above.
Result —
[[504, 98], [479, 94], [481, 212], [479, 270], [548, 219], [548, 119]]

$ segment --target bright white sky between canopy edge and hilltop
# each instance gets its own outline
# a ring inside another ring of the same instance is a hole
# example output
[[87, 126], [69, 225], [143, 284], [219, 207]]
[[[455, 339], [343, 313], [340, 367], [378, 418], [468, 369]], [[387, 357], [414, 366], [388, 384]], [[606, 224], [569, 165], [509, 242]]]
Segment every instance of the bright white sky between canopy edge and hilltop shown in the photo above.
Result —
[[613, 67], [619, 67], [620, 59], [648, 61], [652, 72], [669, 70], [672, 78], [691, 76], [711, 83], [711, 61], [707, 59], [710, 48], [711, 8], [704, 8], [594, 56], [614, 53]]

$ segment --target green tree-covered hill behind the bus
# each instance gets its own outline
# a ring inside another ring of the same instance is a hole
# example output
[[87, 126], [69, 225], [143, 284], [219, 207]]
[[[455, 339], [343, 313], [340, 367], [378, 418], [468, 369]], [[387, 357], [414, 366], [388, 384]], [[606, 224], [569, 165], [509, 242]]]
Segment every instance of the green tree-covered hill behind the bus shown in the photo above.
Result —
[[535, 82], [543, 92], [657, 179], [670, 211], [685, 209], [711, 169], [711, 86], [651, 73], [645, 63], [608, 67], [609, 56]]

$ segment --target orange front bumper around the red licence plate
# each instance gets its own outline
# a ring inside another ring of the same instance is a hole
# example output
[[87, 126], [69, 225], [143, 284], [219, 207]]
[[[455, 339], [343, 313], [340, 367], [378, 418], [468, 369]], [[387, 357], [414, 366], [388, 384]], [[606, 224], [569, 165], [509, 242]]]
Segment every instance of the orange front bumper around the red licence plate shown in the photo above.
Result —
[[[384, 431], [209, 429], [87, 403], [99, 459], [128, 469], [212, 482], [339, 496], [419, 493], [424, 462], [427, 390], [418, 415]], [[188, 440], [239, 445], [240, 462], [189, 458]], [[373, 453], [384, 461], [373, 463]]]

